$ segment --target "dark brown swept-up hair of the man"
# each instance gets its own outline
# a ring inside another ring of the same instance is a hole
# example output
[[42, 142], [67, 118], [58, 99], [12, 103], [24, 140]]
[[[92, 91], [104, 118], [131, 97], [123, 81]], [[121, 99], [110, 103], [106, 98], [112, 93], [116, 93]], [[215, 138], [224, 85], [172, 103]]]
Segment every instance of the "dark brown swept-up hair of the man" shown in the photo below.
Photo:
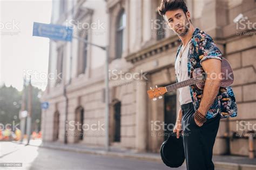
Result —
[[158, 12], [161, 16], [164, 16], [166, 11], [182, 9], [186, 14], [187, 5], [183, 0], [162, 0], [160, 6], [158, 7]]

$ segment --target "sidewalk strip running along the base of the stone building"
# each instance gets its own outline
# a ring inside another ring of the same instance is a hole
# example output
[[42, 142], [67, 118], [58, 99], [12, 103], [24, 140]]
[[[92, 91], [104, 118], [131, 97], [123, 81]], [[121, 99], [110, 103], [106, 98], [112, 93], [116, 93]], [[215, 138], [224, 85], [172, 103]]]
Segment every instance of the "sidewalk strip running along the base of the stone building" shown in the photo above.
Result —
[[[16, 142], [18, 143], [18, 142]], [[23, 142], [26, 144], [26, 141]], [[133, 150], [119, 149], [110, 147], [110, 151], [107, 152], [103, 147], [90, 147], [83, 144], [63, 144], [60, 142], [42, 142], [42, 140], [31, 140], [31, 146], [38, 146], [51, 149], [60, 149], [63, 151], [72, 151], [80, 153], [90, 153], [106, 155], [111, 157], [122, 157], [130, 159], [139, 159], [147, 161], [162, 162], [160, 154], [158, 153], [138, 153]], [[230, 155], [213, 155], [213, 161], [216, 170], [255, 170], [256, 158], [248, 159], [247, 157], [230, 156]], [[184, 162], [185, 164], [185, 162]]]

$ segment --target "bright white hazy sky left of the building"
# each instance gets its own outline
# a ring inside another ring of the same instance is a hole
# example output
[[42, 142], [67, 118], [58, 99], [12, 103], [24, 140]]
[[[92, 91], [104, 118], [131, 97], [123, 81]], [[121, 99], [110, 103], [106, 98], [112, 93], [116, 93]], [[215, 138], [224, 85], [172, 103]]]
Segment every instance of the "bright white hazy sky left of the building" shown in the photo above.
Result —
[[45, 90], [49, 39], [33, 37], [33, 22], [49, 24], [51, 1], [0, 0], [0, 85], [22, 90], [23, 76], [32, 74], [32, 85]]

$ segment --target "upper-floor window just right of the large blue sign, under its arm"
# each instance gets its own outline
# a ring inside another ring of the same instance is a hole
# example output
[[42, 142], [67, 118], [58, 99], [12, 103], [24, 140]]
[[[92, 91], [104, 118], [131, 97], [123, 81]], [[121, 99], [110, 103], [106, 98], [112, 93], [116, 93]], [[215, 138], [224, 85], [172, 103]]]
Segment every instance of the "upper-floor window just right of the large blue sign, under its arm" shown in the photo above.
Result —
[[[87, 42], [88, 40], [88, 35], [85, 33], [84, 37], [85, 41]], [[85, 42], [80, 42], [80, 47], [79, 47], [79, 56], [78, 56], [78, 75], [79, 74], [84, 74], [86, 70], [86, 65], [87, 65], [87, 43]]]

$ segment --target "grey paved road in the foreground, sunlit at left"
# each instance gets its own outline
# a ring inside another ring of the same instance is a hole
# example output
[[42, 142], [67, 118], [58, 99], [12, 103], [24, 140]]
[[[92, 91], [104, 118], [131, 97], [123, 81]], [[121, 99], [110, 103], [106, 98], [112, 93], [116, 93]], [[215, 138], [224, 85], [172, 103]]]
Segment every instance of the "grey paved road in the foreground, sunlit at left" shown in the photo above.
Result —
[[[22, 167], [0, 169], [172, 169], [159, 162], [107, 157], [0, 142], [0, 162], [22, 162]], [[186, 167], [173, 168], [185, 170]]]

